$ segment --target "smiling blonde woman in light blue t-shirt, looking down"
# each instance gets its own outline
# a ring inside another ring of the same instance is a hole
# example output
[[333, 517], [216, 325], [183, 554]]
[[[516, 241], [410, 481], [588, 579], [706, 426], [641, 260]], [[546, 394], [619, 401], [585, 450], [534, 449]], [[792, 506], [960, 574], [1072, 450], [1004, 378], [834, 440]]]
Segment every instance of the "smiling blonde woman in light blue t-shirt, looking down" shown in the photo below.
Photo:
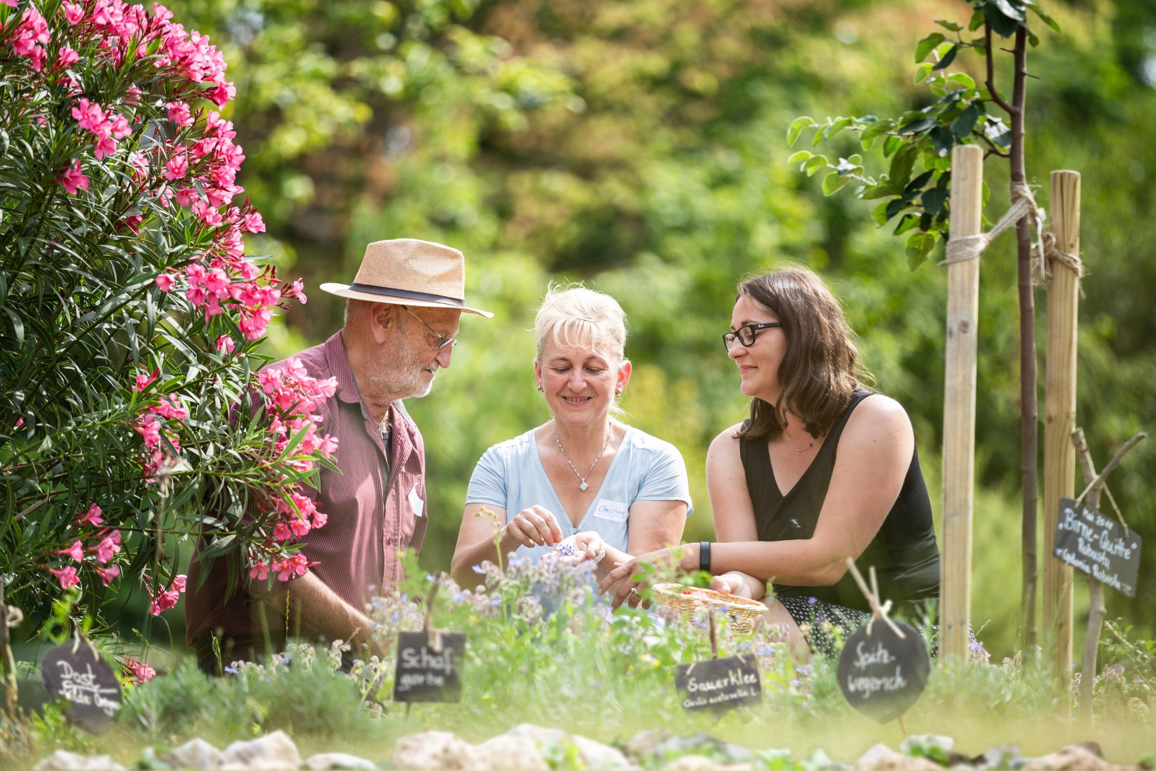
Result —
[[[679, 543], [690, 491], [674, 445], [612, 417], [630, 383], [622, 307], [584, 287], [548, 290], [534, 321], [534, 380], [551, 420], [486, 451], [469, 480], [451, 572], [510, 551], [538, 558], [570, 539], [577, 557], [614, 566]], [[504, 522], [495, 547], [486, 507]], [[638, 596], [628, 599], [637, 605]]]

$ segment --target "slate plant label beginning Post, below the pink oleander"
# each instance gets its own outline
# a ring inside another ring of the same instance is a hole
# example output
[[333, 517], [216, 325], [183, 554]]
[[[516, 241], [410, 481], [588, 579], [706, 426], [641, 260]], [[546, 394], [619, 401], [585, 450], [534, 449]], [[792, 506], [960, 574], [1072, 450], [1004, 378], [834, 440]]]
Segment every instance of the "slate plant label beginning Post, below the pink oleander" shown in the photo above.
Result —
[[120, 709], [120, 682], [86, 643], [69, 640], [49, 651], [40, 674], [53, 698], [68, 700], [68, 719], [89, 733], [106, 729]]

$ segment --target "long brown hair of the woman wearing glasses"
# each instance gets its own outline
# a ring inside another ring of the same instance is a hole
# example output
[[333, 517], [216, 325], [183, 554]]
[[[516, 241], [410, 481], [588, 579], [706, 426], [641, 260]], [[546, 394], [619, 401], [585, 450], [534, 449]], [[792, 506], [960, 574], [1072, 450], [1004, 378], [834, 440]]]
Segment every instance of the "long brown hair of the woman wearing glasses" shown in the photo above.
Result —
[[743, 295], [783, 323], [787, 350], [779, 363], [779, 399], [771, 406], [750, 400], [750, 421], [740, 439], [783, 432], [790, 410], [814, 436], [825, 435], [870, 377], [859, 361], [854, 334], [831, 290], [807, 268], [790, 267], [739, 283]]

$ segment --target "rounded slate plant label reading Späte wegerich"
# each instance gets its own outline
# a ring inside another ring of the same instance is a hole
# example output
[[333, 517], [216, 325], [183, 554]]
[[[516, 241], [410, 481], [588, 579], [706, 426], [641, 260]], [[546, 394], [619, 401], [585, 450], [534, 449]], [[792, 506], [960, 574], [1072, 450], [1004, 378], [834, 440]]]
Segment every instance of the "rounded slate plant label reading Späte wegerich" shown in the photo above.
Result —
[[839, 688], [847, 703], [877, 722], [907, 711], [927, 685], [932, 662], [922, 636], [895, 622], [901, 638], [883, 621], [857, 629], [839, 654]]

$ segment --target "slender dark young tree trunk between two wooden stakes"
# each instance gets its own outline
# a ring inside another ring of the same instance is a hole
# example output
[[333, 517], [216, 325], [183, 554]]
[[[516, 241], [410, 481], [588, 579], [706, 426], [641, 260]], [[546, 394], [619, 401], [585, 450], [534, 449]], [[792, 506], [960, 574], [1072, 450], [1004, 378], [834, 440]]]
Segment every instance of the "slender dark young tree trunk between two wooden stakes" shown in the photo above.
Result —
[[[1011, 186], [1027, 184], [1024, 172], [1024, 102], [1028, 82], [1028, 35], [1015, 34], [1015, 81], [1011, 91]], [[1020, 290], [1020, 483], [1023, 490], [1021, 527], [1023, 554], [1023, 644], [1036, 644], [1036, 520], [1039, 507], [1039, 406], [1036, 395], [1036, 301], [1031, 286], [1031, 223], [1016, 223], [1016, 274]]]

